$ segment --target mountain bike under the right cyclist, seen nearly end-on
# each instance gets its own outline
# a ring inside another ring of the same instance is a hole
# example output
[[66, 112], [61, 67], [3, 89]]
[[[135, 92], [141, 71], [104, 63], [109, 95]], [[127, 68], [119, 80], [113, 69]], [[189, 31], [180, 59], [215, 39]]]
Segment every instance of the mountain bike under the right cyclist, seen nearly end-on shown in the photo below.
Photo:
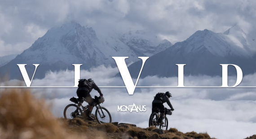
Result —
[[160, 113], [160, 109], [159, 108], [155, 108], [153, 110], [153, 112], [150, 115], [150, 119], [149, 119], [149, 127], [150, 126], [155, 126], [158, 127], [159, 129], [164, 129], [168, 130], [168, 118], [166, 117], [166, 115], [172, 115], [172, 111], [171, 109], [167, 109], [165, 108], [165, 113], [163, 116], [163, 124], [161, 124], [161, 118], [162, 117], [162, 113]]

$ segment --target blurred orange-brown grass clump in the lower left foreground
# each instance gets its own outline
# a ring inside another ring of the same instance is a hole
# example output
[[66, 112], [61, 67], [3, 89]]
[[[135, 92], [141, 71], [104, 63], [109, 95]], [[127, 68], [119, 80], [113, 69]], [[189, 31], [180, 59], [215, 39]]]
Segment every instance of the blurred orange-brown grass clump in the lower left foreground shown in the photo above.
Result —
[[[26, 89], [0, 92], [0, 139], [72, 139], [63, 123], [53, 117], [44, 100]], [[79, 136], [80, 137], [80, 136]], [[80, 139], [87, 139], [81, 136]]]

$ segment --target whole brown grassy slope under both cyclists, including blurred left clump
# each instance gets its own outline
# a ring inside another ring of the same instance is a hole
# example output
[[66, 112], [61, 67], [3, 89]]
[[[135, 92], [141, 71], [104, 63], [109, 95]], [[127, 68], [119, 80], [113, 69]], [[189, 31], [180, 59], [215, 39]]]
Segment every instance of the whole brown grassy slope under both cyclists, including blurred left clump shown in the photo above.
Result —
[[170, 128], [159, 135], [154, 129], [55, 118], [49, 105], [35, 99], [29, 90], [0, 91], [0, 139], [210, 139], [207, 133], [184, 134]]

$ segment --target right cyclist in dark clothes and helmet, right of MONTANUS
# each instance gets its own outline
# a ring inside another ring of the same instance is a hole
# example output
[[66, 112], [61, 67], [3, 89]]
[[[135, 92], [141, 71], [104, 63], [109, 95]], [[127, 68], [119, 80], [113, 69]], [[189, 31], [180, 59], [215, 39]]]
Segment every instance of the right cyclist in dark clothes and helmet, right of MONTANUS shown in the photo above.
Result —
[[157, 93], [156, 96], [154, 97], [154, 100], [152, 101], [152, 113], [154, 112], [154, 109], [159, 108], [160, 113], [162, 113], [162, 117], [160, 119], [161, 124], [164, 124], [163, 122], [163, 117], [165, 114], [165, 108], [163, 106], [163, 103], [167, 103], [169, 107], [171, 108], [172, 111], [174, 111], [172, 104], [169, 100], [169, 98], [172, 97], [172, 94], [167, 91], [165, 93]]

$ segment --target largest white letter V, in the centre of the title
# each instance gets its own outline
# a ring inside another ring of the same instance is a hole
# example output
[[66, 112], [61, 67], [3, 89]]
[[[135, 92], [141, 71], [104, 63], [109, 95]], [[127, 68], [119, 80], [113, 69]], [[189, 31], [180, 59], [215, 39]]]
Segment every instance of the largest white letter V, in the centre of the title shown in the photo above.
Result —
[[[127, 68], [127, 65], [125, 63], [125, 59], [128, 58], [128, 57], [112, 57], [115, 59], [115, 63], [119, 69], [119, 72], [124, 80], [124, 84], [125, 84], [125, 87], [128, 91], [128, 94], [129, 95], [133, 95], [133, 92], [137, 86], [137, 83], [138, 83], [138, 80], [140, 78], [140, 75], [141, 75], [141, 71], [140, 71], [140, 74], [137, 78], [137, 81], [135, 83], [135, 85], [133, 84], [132, 82], [132, 77], [131, 77], [131, 74], [129, 73], [129, 70]], [[142, 66], [141, 66], [141, 70], [146, 62], [146, 60], [149, 58], [149, 57], [138, 57], [140, 59], [142, 59]]]

